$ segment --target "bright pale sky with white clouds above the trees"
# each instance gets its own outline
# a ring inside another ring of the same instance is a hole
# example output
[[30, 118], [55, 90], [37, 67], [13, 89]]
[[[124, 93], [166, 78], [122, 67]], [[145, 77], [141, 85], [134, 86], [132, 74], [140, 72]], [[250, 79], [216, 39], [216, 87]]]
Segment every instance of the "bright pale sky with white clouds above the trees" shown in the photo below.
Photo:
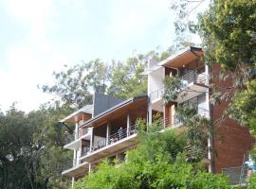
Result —
[[0, 110], [38, 109], [64, 65], [166, 49], [173, 21], [169, 0], [0, 0]]

